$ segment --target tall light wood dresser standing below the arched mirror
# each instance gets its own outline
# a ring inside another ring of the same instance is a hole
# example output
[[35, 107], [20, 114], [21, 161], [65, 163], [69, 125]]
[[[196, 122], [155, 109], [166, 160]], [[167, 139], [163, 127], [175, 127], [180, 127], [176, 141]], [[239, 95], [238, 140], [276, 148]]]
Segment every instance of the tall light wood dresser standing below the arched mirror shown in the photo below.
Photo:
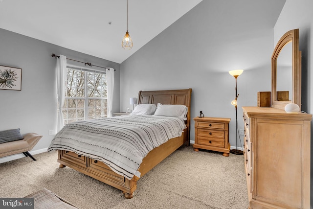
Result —
[[249, 209], [309, 209], [312, 115], [243, 110]]

